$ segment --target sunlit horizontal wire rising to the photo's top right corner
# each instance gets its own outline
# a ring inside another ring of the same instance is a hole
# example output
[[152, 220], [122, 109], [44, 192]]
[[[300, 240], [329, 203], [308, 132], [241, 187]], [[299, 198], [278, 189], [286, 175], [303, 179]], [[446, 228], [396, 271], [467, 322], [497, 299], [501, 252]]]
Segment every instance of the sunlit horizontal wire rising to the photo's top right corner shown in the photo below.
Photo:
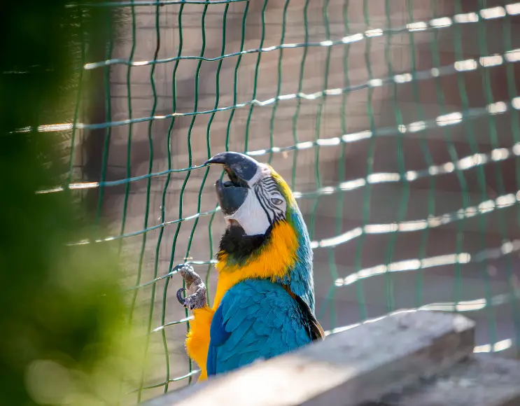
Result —
[[[244, 1], [244, 0], [239, 0]], [[230, 2], [223, 1], [225, 3]], [[206, 4], [206, 2], [202, 2]], [[120, 4], [120, 3], [118, 3]], [[157, 3], [154, 3], [157, 5]], [[114, 64], [125, 64], [127, 66], [148, 66], [153, 64], [165, 64], [169, 62], [174, 62], [177, 60], [202, 60], [204, 62], [217, 62], [225, 58], [230, 57], [238, 57], [240, 55], [247, 55], [252, 53], [264, 53], [264, 52], [272, 52], [274, 50], [282, 50], [287, 48], [305, 48], [305, 47], [330, 47], [336, 45], [345, 45], [347, 43], [355, 43], [359, 41], [363, 41], [367, 38], [373, 38], [377, 36], [383, 36], [385, 34], [402, 34], [403, 32], [415, 32], [415, 31], [433, 31], [437, 29], [443, 29], [447, 27], [451, 27], [456, 24], [468, 24], [472, 22], [479, 22], [480, 18], [484, 20], [491, 20], [496, 18], [505, 18], [506, 15], [517, 15], [520, 13], [520, 3], [512, 3], [505, 6], [506, 8], [486, 8], [480, 10], [480, 15], [477, 13], [464, 13], [452, 15], [450, 17], [441, 17], [434, 18], [430, 21], [416, 21], [410, 22], [407, 25], [403, 25], [402, 27], [388, 27], [384, 29], [368, 29], [366, 31], [351, 34], [349, 36], [344, 36], [337, 40], [328, 40], [328, 41], [319, 41], [319, 42], [307, 42], [307, 43], [283, 43], [280, 45], [272, 45], [269, 47], [263, 48], [253, 48], [248, 50], [242, 50], [239, 52], [232, 52], [225, 55], [220, 55], [218, 57], [208, 58], [208, 57], [199, 57], [195, 55], [189, 56], [177, 56], [177, 57], [169, 57], [164, 59], [153, 59], [146, 61], [132, 61], [129, 59], [115, 58], [115, 59], [106, 59], [101, 62], [90, 62], [84, 65], [84, 69], [97, 69], [104, 66], [114, 65]]]

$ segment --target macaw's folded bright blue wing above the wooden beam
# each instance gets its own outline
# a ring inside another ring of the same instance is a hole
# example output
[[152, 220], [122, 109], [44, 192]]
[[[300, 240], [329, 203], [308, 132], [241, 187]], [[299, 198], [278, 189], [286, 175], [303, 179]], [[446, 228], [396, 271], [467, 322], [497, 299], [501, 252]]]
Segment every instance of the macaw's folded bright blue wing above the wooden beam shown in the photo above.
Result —
[[297, 302], [279, 283], [250, 279], [233, 286], [215, 311], [209, 375], [228, 372], [311, 342]]

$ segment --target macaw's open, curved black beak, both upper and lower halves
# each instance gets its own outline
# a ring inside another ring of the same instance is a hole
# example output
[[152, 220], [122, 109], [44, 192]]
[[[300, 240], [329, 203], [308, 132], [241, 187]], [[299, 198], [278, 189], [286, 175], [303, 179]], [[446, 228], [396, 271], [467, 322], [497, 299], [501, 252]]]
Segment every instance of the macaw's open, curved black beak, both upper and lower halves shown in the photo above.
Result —
[[231, 216], [246, 201], [251, 181], [258, 171], [258, 162], [247, 155], [235, 152], [218, 153], [206, 164], [224, 165], [230, 181], [216, 181], [218, 204], [225, 216]]

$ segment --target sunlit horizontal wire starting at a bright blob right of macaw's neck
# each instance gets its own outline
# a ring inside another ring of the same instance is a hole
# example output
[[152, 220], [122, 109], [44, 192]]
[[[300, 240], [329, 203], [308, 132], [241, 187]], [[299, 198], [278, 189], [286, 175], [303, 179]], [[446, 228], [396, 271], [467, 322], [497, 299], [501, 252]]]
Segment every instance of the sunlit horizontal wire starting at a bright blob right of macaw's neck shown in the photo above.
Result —
[[451, 253], [446, 255], [437, 255], [433, 257], [410, 260], [401, 260], [391, 262], [388, 265], [381, 264], [375, 267], [368, 267], [354, 272], [344, 278], [335, 281], [337, 287], [349, 286], [356, 281], [366, 279], [371, 276], [386, 274], [387, 272], [407, 272], [426, 269], [431, 267], [440, 267], [442, 265], [468, 264], [473, 262], [483, 262], [484, 260], [498, 259], [510, 253], [520, 251], [520, 239], [505, 241], [498, 248], [489, 248], [479, 251], [476, 254], [470, 253]]

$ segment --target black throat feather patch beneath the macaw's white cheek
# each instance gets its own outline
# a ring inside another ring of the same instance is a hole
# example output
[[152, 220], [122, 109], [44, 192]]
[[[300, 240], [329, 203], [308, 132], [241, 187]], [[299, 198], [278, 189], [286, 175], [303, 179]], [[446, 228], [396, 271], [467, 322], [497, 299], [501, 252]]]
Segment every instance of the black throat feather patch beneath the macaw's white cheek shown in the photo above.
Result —
[[272, 227], [265, 234], [246, 235], [244, 229], [239, 225], [231, 225], [225, 230], [220, 239], [220, 252], [217, 259], [220, 260], [221, 253], [227, 253], [227, 259], [239, 264], [246, 262], [257, 255], [260, 248], [267, 242], [271, 235]]

